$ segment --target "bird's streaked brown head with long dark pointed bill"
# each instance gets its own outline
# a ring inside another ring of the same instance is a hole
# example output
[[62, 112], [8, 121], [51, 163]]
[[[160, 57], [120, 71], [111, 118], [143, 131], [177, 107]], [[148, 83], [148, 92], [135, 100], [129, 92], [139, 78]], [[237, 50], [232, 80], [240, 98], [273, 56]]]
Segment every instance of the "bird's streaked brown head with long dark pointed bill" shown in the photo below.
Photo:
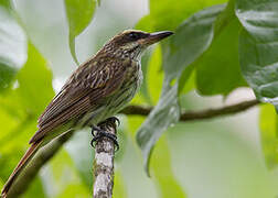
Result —
[[104, 48], [107, 53], [137, 59], [140, 58], [148, 46], [172, 34], [173, 32], [170, 31], [147, 33], [138, 30], [126, 30], [114, 36]]

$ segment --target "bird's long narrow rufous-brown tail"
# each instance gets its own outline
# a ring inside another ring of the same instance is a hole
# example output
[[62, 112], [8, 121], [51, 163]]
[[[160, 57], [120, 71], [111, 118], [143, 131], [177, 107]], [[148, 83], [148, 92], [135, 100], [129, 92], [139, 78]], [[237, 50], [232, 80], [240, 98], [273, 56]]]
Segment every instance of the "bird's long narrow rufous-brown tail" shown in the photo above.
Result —
[[9, 179], [7, 180], [7, 183], [4, 184], [4, 186], [2, 188], [2, 193], [1, 193], [1, 198], [6, 198], [7, 197], [10, 187], [12, 186], [12, 184], [14, 183], [14, 180], [18, 178], [18, 176], [20, 175], [20, 173], [23, 170], [23, 168], [28, 165], [28, 163], [30, 162], [30, 160], [38, 152], [38, 150], [40, 148], [41, 145], [42, 145], [42, 140], [38, 141], [38, 142], [34, 142], [34, 143], [31, 144], [31, 146], [29, 147], [29, 150], [26, 151], [26, 153], [23, 155], [23, 157], [20, 160], [19, 164], [13, 169], [11, 176], [9, 177]]

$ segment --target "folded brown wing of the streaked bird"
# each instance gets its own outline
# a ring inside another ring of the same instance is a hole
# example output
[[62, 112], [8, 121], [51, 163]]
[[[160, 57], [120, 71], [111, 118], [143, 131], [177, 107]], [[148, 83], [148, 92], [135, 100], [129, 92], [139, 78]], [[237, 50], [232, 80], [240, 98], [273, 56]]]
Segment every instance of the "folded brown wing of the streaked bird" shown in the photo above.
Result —
[[[113, 67], [111, 64], [117, 66]], [[39, 130], [30, 143], [40, 140], [56, 127], [82, 117], [87, 111], [94, 111], [103, 99], [120, 87], [125, 68], [119, 62], [115, 63], [115, 59], [97, 66], [92, 63], [81, 66], [39, 118]]]

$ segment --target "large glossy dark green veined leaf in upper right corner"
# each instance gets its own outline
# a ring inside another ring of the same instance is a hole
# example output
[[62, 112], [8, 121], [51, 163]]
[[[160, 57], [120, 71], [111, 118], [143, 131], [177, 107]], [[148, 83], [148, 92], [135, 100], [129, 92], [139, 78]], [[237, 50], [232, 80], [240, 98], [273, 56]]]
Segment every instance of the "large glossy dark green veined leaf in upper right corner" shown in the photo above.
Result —
[[242, 73], [258, 100], [278, 108], [278, 2], [238, 0], [236, 15]]

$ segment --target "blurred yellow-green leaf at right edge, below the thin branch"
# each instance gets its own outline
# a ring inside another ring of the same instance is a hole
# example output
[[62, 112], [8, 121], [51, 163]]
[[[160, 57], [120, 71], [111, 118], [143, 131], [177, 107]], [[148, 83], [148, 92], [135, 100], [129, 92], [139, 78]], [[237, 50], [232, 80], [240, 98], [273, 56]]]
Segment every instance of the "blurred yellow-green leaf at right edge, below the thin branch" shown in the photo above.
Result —
[[278, 117], [271, 105], [263, 105], [259, 116], [260, 142], [269, 168], [278, 165]]

